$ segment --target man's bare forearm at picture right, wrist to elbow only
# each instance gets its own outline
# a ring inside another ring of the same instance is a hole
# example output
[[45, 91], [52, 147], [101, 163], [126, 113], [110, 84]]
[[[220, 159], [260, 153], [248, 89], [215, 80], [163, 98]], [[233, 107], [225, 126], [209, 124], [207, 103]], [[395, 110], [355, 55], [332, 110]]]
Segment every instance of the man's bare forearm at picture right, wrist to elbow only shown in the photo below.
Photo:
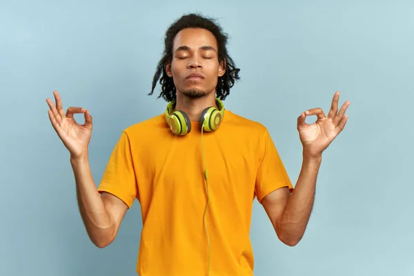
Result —
[[297, 244], [304, 235], [313, 208], [317, 173], [321, 162], [322, 156], [311, 157], [306, 153], [303, 155], [302, 169], [295, 190], [277, 222], [277, 233], [288, 244]]

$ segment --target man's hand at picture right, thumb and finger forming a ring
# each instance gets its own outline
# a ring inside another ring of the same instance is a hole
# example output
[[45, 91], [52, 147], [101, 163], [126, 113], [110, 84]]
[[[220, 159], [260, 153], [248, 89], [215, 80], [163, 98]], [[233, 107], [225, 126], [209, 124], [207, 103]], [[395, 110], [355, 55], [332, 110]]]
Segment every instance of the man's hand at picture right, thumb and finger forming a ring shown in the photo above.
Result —
[[[311, 157], [320, 157], [322, 152], [328, 148], [333, 139], [344, 129], [348, 115], [344, 115], [350, 102], [346, 101], [338, 112], [339, 91], [333, 96], [331, 110], [328, 117], [321, 108], [313, 108], [303, 112], [297, 118], [297, 130], [299, 138], [304, 147], [304, 153]], [[306, 116], [317, 116], [313, 124], [306, 124]]]

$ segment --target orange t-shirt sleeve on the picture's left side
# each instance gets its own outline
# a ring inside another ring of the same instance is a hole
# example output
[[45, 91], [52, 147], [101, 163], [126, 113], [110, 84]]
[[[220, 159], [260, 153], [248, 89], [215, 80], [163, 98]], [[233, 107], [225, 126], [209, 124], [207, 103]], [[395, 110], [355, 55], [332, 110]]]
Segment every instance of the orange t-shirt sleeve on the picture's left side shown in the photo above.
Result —
[[125, 130], [112, 150], [98, 191], [115, 195], [124, 201], [128, 208], [132, 206], [138, 195], [130, 139]]

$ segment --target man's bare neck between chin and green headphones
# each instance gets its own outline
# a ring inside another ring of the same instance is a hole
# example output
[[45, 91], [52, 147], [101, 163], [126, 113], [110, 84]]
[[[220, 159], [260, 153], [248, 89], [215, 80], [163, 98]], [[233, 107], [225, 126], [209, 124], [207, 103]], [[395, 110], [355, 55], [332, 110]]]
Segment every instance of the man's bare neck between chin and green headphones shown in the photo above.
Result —
[[190, 98], [177, 92], [177, 101], [174, 110], [186, 112], [190, 121], [199, 121], [201, 112], [203, 112], [204, 108], [210, 106], [217, 108], [214, 92], [199, 98]]

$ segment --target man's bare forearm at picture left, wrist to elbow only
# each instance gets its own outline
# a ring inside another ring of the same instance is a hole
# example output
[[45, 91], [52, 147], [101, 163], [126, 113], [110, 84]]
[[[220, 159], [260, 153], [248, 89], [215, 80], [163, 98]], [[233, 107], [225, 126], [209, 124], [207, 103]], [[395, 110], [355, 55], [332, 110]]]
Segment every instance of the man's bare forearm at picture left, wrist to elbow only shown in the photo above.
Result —
[[106, 246], [112, 240], [115, 226], [93, 181], [88, 155], [71, 158], [70, 164], [75, 174], [77, 202], [86, 231], [96, 246]]

